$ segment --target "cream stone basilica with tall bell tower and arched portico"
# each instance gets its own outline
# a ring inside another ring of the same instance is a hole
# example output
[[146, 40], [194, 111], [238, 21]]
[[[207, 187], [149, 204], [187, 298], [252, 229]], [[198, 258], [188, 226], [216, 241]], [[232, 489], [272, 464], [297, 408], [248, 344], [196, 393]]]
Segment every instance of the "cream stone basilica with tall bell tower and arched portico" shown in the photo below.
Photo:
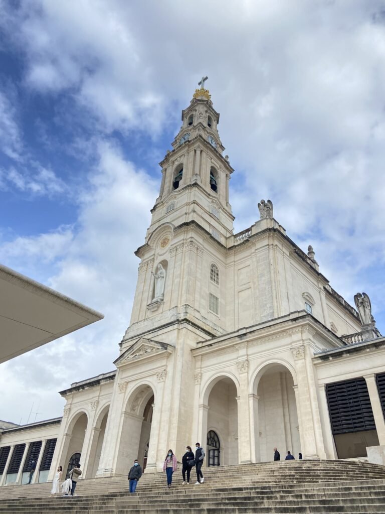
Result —
[[[160, 163], [115, 369], [61, 392], [44, 480], [79, 460], [85, 478], [126, 474], [135, 458], [156, 472], [168, 448], [181, 458], [196, 442], [208, 466], [269, 461], [274, 447], [337, 459], [385, 445], [385, 338], [369, 298], [357, 295], [355, 309], [338, 295], [270, 200], [256, 201], [258, 221], [234, 234], [234, 170], [218, 123], [203, 81]], [[12, 483], [21, 432], [2, 433], [0, 484]], [[27, 433], [16, 483], [44, 428]]]

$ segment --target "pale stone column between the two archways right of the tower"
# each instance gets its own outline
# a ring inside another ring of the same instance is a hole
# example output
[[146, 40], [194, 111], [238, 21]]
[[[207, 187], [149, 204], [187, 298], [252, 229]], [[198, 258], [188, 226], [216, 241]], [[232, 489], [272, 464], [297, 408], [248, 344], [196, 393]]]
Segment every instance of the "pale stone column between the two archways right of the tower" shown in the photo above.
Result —
[[240, 391], [238, 400], [238, 455], [239, 464], [251, 463], [250, 416], [248, 409], [248, 360], [237, 362]]

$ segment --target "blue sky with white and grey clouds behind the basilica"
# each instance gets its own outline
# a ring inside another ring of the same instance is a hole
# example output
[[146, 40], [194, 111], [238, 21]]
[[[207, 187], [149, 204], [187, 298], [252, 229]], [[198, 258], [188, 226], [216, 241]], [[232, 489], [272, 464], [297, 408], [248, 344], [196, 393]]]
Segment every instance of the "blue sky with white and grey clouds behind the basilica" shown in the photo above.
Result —
[[[385, 4], [0, 0], [0, 262], [105, 319], [0, 365], [0, 419], [60, 416], [113, 369], [160, 186], [203, 74], [235, 230], [275, 217], [385, 333]], [[36, 412], [38, 414], [36, 414]]]

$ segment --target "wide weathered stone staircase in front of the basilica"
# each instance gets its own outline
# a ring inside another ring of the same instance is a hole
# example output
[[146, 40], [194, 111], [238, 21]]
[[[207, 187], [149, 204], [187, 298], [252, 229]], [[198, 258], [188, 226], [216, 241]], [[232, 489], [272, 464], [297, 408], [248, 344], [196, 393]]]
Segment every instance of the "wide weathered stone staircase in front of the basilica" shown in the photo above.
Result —
[[[347, 461], [281, 461], [203, 469], [205, 482], [171, 489], [165, 473], [144, 474], [129, 494], [126, 477], [80, 480], [78, 496], [51, 498], [51, 484], [0, 488], [0, 513], [185, 514], [385, 513], [385, 467]], [[194, 478], [194, 480], [193, 480]]]

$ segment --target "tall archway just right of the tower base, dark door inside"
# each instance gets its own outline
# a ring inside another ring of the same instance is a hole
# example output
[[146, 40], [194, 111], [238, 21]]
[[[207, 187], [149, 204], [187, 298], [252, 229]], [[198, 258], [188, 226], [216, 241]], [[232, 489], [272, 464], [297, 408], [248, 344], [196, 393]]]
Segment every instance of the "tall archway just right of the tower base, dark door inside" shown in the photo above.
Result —
[[[227, 376], [219, 376], [211, 380], [204, 392], [203, 404], [207, 406], [207, 424], [204, 422], [203, 434], [208, 435], [208, 432], [221, 434], [220, 443], [218, 435], [218, 442], [215, 442], [215, 438], [211, 440], [215, 445], [220, 444], [219, 448], [215, 446], [209, 448], [210, 450], [220, 450], [211, 453], [213, 464], [218, 460], [217, 465], [238, 464], [237, 397], [237, 385], [232, 378]], [[207, 430], [208, 427], [210, 430]], [[214, 458], [216, 453], [217, 456]]]

